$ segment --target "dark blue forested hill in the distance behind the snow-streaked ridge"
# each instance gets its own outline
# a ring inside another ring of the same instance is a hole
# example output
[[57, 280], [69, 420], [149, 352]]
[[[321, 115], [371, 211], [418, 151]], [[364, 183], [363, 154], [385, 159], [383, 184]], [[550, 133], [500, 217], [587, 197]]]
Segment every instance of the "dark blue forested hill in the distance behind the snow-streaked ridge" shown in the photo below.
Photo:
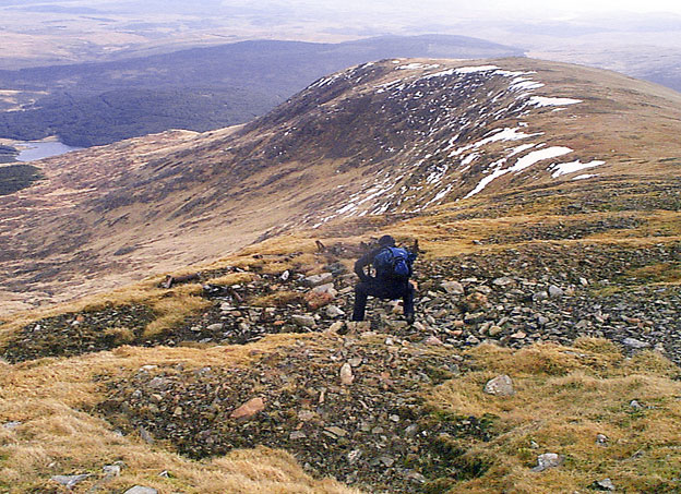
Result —
[[250, 121], [314, 80], [371, 60], [522, 55], [464, 36], [386, 36], [342, 44], [243, 41], [107, 63], [0, 71], [0, 86], [26, 99], [22, 105], [22, 95], [16, 96], [23, 111], [0, 113], [0, 136], [59, 135], [64, 144], [88, 147], [168, 129], [203, 132]]

